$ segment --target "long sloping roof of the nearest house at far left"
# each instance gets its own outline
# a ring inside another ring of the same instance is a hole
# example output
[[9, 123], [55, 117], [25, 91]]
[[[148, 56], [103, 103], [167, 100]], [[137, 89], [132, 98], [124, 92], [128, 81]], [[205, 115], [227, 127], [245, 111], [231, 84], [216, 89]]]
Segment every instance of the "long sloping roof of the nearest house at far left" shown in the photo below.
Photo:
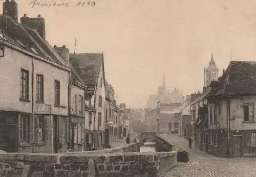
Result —
[[[2, 26], [2, 18], [3, 15], [0, 14], [0, 26]], [[23, 27], [22, 24], [16, 23], [9, 16], [5, 17], [5, 22], [7, 29], [5, 30], [4, 37], [7, 42], [27, 52], [67, 67], [65, 61], [55, 52], [53, 47], [46, 40], [42, 39], [35, 30]]]

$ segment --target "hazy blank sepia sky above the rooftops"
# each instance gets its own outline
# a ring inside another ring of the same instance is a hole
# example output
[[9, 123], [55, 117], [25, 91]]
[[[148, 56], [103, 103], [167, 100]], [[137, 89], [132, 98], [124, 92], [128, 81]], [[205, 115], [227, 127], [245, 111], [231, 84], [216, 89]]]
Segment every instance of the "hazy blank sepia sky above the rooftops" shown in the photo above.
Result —
[[[46, 38], [77, 53], [102, 53], [105, 77], [118, 103], [145, 107], [165, 72], [168, 89], [201, 90], [203, 68], [214, 54], [225, 69], [230, 58], [256, 61], [256, 1], [96, 0], [94, 7], [34, 7], [16, 0], [22, 17], [46, 19]], [[37, 1], [52, 4], [51, 0]], [[2, 6], [2, 4], [1, 4]], [[2, 7], [1, 7], [2, 8]]]

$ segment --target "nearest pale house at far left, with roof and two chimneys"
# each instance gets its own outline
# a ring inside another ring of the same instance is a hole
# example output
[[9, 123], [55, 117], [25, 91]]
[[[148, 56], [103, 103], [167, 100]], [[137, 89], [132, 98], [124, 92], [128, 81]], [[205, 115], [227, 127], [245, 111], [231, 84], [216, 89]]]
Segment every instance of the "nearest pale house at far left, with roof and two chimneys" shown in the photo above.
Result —
[[[0, 35], [0, 148], [10, 152], [58, 153], [69, 144], [68, 63], [45, 39], [45, 19], [3, 3]], [[4, 21], [4, 24], [2, 23]], [[2, 33], [2, 32], [1, 32]], [[3, 33], [2, 33], [3, 34]]]

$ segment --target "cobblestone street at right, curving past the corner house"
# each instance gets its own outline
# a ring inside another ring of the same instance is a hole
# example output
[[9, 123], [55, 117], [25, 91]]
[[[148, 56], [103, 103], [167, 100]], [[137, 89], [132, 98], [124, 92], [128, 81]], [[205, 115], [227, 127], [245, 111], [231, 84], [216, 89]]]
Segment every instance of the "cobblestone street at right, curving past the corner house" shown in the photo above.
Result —
[[207, 177], [207, 176], [256, 176], [256, 158], [219, 158], [198, 151], [194, 146], [188, 148], [185, 139], [177, 135], [161, 135], [175, 144], [176, 148], [187, 150], [189, 163], [179, 163], [175, 168], [165, 173], [164, 177]]

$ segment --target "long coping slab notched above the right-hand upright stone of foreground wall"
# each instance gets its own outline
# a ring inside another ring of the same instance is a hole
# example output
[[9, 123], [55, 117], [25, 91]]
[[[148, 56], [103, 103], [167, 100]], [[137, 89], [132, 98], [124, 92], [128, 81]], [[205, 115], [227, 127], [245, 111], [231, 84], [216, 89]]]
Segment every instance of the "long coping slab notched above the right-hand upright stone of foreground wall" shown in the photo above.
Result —
[[106, 161], [106, 156], [103, 154], [67, 154], [60, 157], [60, 162], [63, 164], [88, 163], [90, 159], [96, 163], [103, 163]]

